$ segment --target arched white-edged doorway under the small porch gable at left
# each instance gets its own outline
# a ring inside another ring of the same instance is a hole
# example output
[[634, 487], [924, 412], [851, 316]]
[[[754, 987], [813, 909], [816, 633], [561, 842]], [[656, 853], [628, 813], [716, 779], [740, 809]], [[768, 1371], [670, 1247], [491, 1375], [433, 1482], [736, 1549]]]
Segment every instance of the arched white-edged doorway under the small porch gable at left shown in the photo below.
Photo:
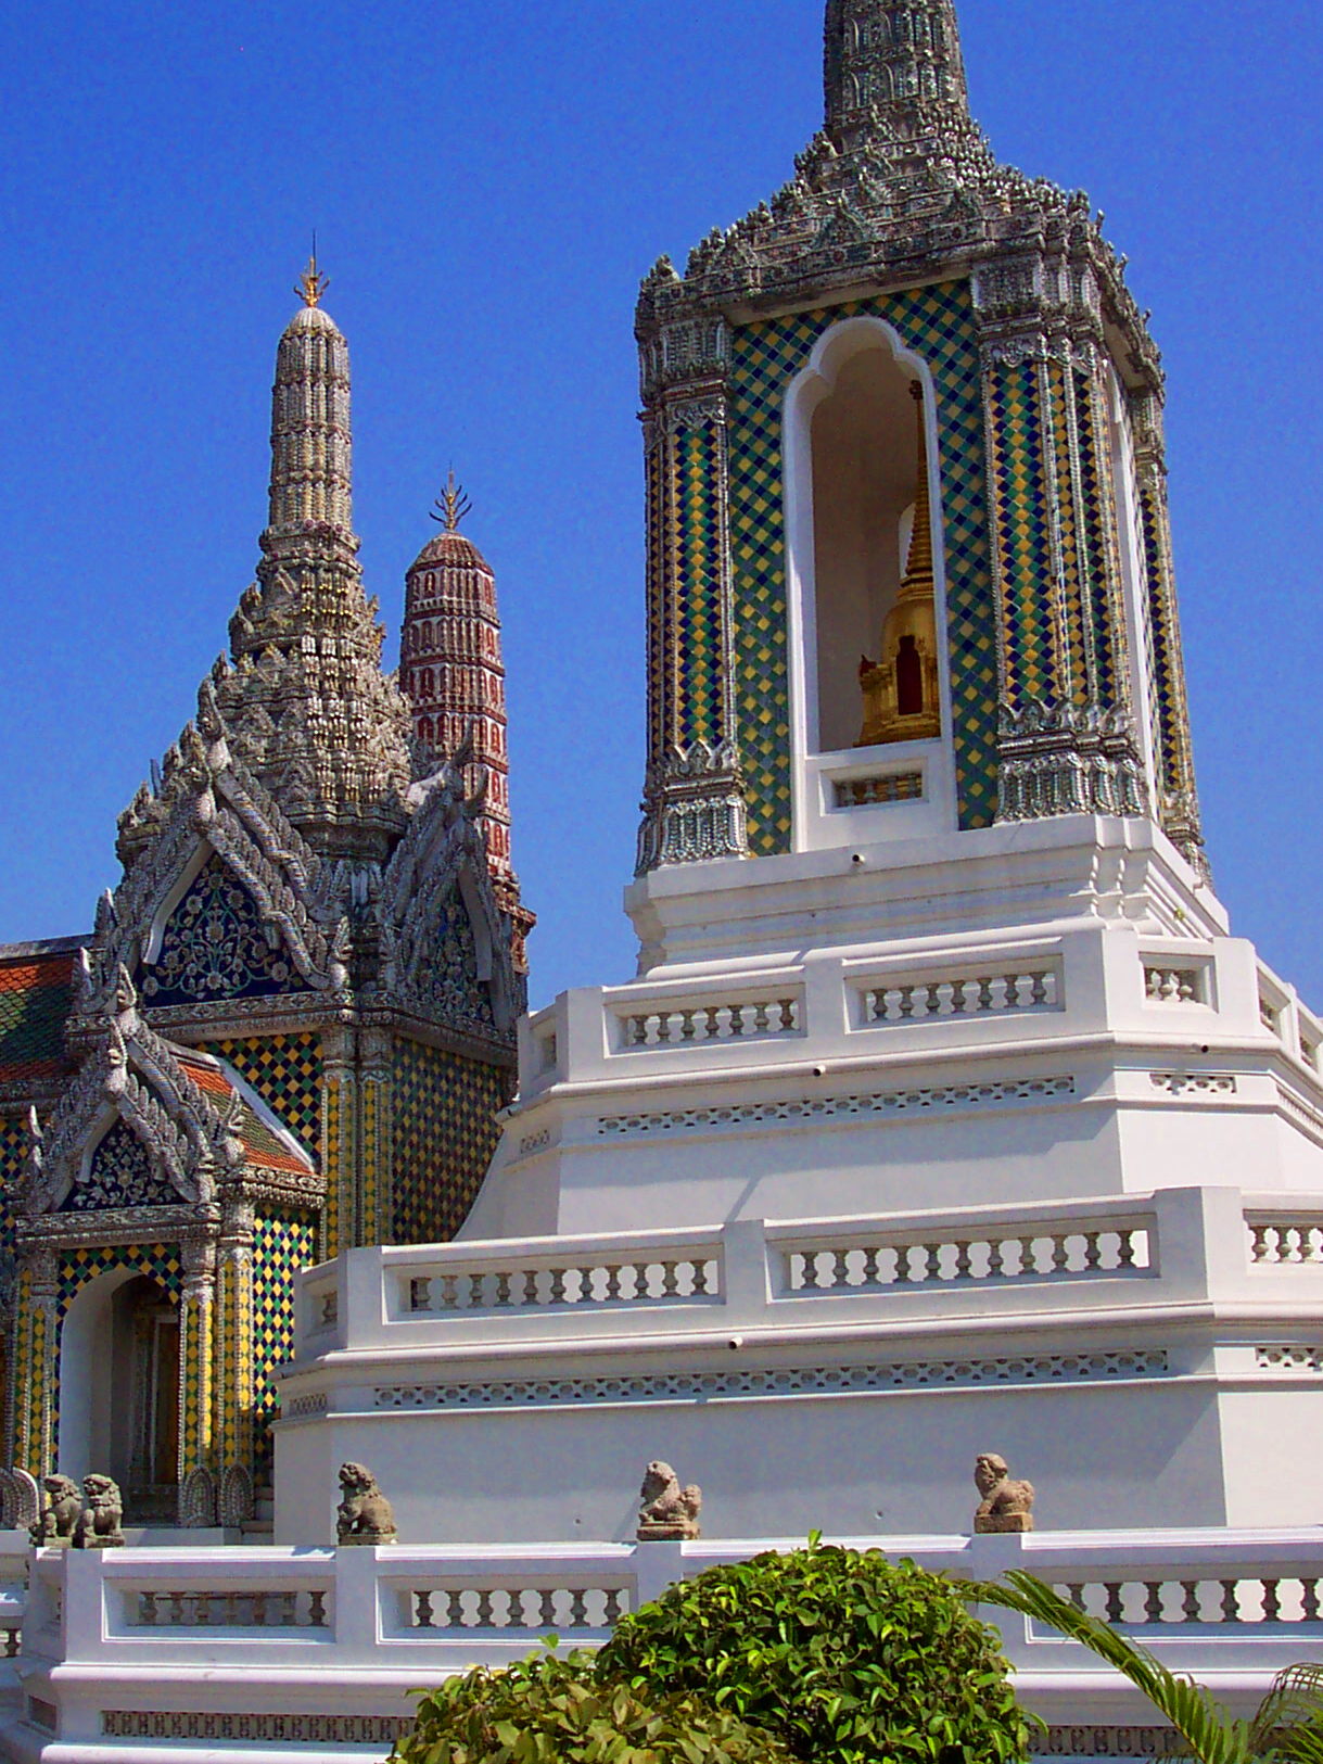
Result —
[[102, 1275], [69, 1307], [60, 1469], [113, 1476], [129, 1524], [178, 1522], [180, 1309], [146, 1275]]

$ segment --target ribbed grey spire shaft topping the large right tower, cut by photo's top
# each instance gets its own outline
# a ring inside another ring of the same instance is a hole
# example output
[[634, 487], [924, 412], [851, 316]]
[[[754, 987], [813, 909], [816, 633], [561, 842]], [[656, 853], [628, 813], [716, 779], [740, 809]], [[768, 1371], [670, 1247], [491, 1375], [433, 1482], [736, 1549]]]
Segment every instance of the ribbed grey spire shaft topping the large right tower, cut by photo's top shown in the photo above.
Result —
[[838, 146], [877, 129], [912, 134], [921, 106], [967, 120], [954, 0], [829, 0], [826, 88]]

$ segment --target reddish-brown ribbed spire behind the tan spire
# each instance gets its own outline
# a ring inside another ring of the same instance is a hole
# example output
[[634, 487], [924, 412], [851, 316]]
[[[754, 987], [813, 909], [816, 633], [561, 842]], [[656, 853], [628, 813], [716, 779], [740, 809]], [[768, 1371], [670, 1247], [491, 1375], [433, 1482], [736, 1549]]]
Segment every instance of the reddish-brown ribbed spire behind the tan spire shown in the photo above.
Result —
[[515, 965], [533, 926], [519, 898], [510, 857], [510, 753], [505, 663], [496, 575], [473, 540], [460, 533], [469, 501], [453, 473], [432, 517], [441, 531], [406, 577], [400, 684], [413, 706], [413, 732], [423, 769], [460, 757], [469, 790], [482, 792], [478, 824], [501, 910], [515, 924]]

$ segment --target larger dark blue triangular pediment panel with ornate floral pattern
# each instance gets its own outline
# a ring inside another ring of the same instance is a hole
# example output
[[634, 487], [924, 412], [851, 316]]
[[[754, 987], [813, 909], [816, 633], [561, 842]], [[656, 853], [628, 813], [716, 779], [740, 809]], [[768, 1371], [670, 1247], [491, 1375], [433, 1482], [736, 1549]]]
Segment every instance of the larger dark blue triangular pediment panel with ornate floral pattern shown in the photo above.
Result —
[[215, 854], [171, 910], [136, 979], [145, 1005], [270, 998], [307, 986], [275, 926], [263, 923], [252, 894]]

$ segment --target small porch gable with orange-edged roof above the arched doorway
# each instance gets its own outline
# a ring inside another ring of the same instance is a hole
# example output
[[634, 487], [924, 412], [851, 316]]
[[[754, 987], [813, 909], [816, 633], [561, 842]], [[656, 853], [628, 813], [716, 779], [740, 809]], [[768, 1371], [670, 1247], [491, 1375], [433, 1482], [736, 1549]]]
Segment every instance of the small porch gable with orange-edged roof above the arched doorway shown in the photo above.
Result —
[[28, 1132], [28, 1221], [138, 1207], [206, 1217], [226, 1185], [256, 1180], [307, 1198], [318, 1180], [307, 1152], [219, 1060], [146, 1025], [123, 967], [78, 1076], [44, 1129], [34, 1111]]

